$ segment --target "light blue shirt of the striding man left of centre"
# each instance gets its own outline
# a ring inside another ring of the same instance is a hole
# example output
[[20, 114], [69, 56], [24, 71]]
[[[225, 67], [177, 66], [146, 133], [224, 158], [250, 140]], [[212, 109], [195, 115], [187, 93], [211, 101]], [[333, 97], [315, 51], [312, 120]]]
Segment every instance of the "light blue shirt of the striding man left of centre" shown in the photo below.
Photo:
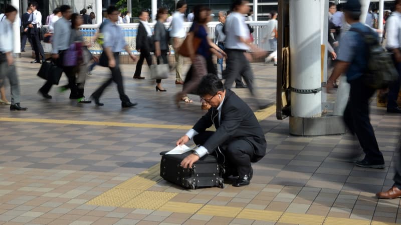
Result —
[[103, 47], [110, 47], [112, 52], [120, 52], [127, 45], [124, 31], [116, 23], [107, 22], [102, 27], [102, 32], [104, 34]]

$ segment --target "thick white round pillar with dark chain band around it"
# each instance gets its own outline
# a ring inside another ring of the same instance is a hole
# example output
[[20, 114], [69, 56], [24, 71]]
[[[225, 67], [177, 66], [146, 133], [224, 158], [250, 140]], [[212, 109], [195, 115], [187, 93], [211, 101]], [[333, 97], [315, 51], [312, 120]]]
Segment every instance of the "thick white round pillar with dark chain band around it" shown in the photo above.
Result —
[[[291, 87], [294, 88], [291, 91], [291, 116], [293, 117], [319, 117], [322, 112], [320, 7], [320, 0], [290, 0], [290, 70]], [[316, 89], [317, 92], [309, 93], [312, 89]]]

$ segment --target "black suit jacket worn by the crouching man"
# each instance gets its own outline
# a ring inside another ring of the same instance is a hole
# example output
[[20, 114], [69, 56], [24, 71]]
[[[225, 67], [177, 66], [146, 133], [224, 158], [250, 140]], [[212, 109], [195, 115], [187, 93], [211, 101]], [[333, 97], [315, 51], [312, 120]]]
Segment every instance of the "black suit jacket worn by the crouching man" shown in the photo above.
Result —
[[212, 107], [200, 118], [193, 129], [200, 133], [215, 124], [216, 132], [205, 142], [204, 146], [209, 153], [218, 146], [224, 146], [232, 140], [244, 139], [254, 147], [256, 162], [266, 154], [266, 138], [254, 112], [236, 93], [226, 89], [226, 96], [221, 108], [221, 121], [219, 124], [219, 112]]

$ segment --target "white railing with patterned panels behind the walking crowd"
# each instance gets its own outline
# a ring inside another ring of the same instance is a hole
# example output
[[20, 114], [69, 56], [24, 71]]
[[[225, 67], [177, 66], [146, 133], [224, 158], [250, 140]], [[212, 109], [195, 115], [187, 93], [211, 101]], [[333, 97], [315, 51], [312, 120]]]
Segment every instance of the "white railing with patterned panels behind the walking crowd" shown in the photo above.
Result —
[[[254, 44], [258, 45], [260, 48], [270, 50], [270, 45], [269, 42], [262, 43], [263, 37], [266, 36], [266, 27], [269, 21], [247, 21], [247, 23], [254, 28], [254, 32], [252, 33], [254, 36]], [[150, 27], [153, 29], [155, 23], [149, 23]], [[209, 22], [208, 27], [209, 27], [209, 33], [211, 37], [214, 37], [216, 25], [219, 24], [219, 22]], [[123, 24], [118, 24], [121, 26], [121, 28], [124, 30], [124, 37], [128, 45], [131, 47], [132, 52], [134, 54], [139, 54], [135, 50], [135, 45], [136, 45], [136, 33], [138, 29], [139, 23], [123, 23]], [[189, 28], [191, 27], [192, 22], [184, 22], [184, 28], [185, 31], [188, 32]], [[164, 23], [164, 26], [168, 28], [170, 26], [170, 23]], [[99, 24], [88, 24], [88, 25], [82, 25], [81, 26], [81, 31], [84, 36], [84, 40], [91, 43], [91, 46], [89, 47], [89, 50], [92, 52], [92, 54], [101, 54], [103, 49], [97, 43], [97, 41], [94, 39], [95, 33], [99, 27]], [[51, 52], [52, 51], [52, 45], [49, 43], [45, 43], [42, 41], [43, 48], [45, 52]], [[170, 48], [170, 52], [174, 54], [174, 51], [172, 48]], [[126, 51], [121, 51], [121, 54], [127, 54]]]

